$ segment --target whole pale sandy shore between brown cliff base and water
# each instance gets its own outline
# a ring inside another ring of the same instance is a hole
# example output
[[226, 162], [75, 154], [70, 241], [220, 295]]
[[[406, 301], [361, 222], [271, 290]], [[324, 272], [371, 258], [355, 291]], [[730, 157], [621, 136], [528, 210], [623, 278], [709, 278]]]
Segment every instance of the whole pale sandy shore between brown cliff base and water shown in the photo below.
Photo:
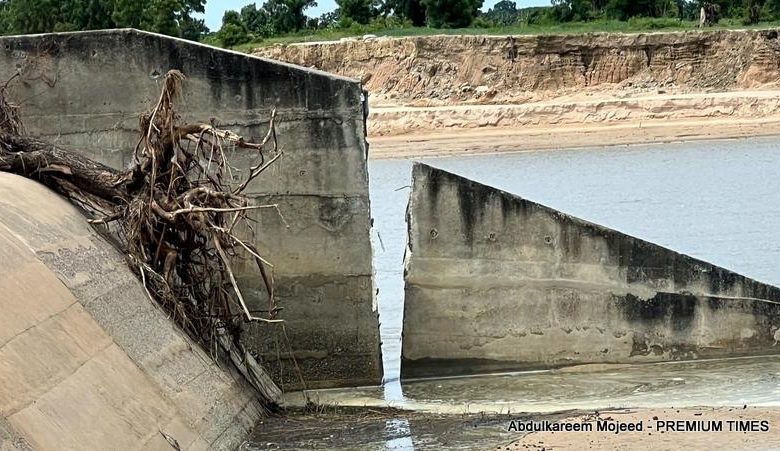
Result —
[[377, 107], [370, 155], [420, 158], [780, 134], [780, 91], [615, 97], [588, 92], [523, 105]]

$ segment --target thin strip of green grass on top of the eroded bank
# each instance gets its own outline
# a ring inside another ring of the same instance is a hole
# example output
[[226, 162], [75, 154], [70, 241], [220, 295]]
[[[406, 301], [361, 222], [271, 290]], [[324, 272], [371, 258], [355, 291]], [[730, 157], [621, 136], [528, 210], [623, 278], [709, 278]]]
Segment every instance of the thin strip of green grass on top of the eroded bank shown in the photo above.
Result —
[[[744, 25], [737, 19], [725, 19], [707, 30], [717, 29], [756, 29], [780, 26], [780, 21], [761, 22], [755, 25]], [[366, 34], [376, 36], [431, 36], [431, 35], [522, 35], [522, 34], [578, 34], [578, 33], [637, 33], [654, 31], [696, 31], [698, 22], [680, 21], [677, 19], [633, 18], [628, 21], [599, 20], [591, 22], [567, 22], [558, 24], [520, 24], [500, 27], [470, 27], [470, 28], [428, 28], [428, 27], [387, 27], [381, 22], [360, 25], [353, 24], [349, 28], [333, 28], [326, 30], [311, 30], [249, 42], [233, 47], [234, 50], [251, 52], [258, 47], [269, 47], [277, 44], [294, 44], [299, 42], [336, 41], [341, 38], [359, 37]], [[213, 44], [213, 43], [212, 43]]]

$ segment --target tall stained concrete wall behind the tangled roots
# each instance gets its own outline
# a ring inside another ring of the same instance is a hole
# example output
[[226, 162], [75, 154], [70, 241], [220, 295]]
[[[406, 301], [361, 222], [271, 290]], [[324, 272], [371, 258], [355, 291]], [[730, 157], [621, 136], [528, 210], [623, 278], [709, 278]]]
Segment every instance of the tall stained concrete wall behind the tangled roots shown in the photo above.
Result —
[[[185, 120], [213, 119], [259, 139], [278, 110], [285, 155], [249, 192], [284, 216], [254, 214], [258, 248], [276, 268], [286, 335], [256, 324], [249, 348], [284, 389], [300, 382], [292, 356], [309, 387], [379, 383], [358, 82], [135, 30], [0, 38], [0, 80], [22, 74], [11, 97], [23, 102], [30, 133], [118, 168], [131, 162], [139, 113], [156, 102], [170, 69], [188, 77]], [[238, 168], [254, 158], [232, 156]], [[262, 281], [254, 271], [242, 276], [250, 307], [267, 309]]]

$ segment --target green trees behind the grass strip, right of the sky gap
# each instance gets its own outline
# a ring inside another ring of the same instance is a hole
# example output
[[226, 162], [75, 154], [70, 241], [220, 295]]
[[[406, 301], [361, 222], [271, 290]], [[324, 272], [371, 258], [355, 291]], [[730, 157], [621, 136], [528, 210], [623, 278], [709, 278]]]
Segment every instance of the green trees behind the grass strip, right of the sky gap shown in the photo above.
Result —
[[[317, 18], [305, 10], [316, 0], [268, 0], [225, 14], [214, 36], [234, 46], [249, 41], [305, 30], [349, 28], [379, 22], [387, 28], [490, 28], [513, 25], [553, 25], [599, 20], [668, 19], [698, 21], [703, 7], [716, 18], [741, 20], [745, 25], [780, 19], [780, 0], [551, 0], [549, 7], [518, 8], [501, 0], [480, 11], [483, 0], [336, 0], [338, 8]], [[652, 27], [653, 23], [649, 22]]]

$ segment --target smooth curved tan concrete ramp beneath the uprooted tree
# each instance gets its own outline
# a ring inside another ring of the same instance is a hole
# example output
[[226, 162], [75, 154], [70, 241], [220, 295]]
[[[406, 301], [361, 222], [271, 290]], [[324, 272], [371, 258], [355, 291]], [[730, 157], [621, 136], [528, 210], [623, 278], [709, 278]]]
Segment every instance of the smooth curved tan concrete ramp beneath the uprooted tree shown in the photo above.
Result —
[[73, 206], [5, 173], [0, 261], [0, 450], [235, 449], [260, 417]]

